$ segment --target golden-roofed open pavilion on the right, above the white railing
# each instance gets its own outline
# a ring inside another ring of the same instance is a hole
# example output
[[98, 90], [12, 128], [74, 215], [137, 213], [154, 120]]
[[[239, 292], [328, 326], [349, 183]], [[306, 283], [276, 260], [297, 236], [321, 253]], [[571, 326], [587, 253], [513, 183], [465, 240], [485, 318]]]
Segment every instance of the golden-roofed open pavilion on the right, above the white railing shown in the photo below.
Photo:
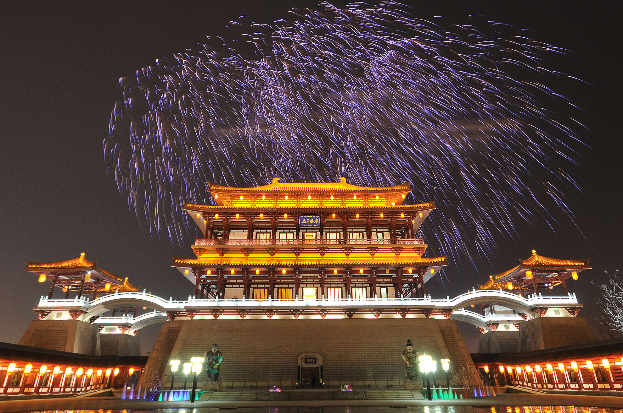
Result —
[[479, 284], [481, 289], [505, 289], [534, 292], [538, 294], [540, 289], [545, 289], [548, 295], [551, 290], [561, 285], [564, 294], [568, 294], [566, 279], [578, 279], [578, 273], [585, 269], [591, 269], [589, 259], [556, 259], [547, 258], [536, 254], [532, 250], [532, 256], [528, 259], [520, 259], [520, 264], [508, 271], [489, 276], [486, 284]]

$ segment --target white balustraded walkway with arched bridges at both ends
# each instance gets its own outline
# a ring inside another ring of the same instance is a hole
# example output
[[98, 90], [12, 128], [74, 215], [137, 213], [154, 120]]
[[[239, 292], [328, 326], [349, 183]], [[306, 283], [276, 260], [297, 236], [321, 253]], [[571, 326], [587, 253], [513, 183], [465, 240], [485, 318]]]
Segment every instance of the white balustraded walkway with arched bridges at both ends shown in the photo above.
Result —
[[[512, 309], [516, 314], [488, 315], [464, 310], [480, 304], [497, 304]], [[146, 307], [153, 310], [138, 317], [101, 317], [109, 310], [120, 307]], [[68, 311], [70, 315], [85, 322], [105, 326], [118, 326], [121, 332], [135, 333], [147, 325], [162, 323], [174, 318], [335, 318], [335, 317], [432, 317], [453, 318], [471, 323], [486, 332], [499, 323], [520, 323], [534, 317], [545, 317], [551, 308], [564, 309], [560, 315], [576, 315], [582, 304], [575, 294], [563, 297], [520, 295], [503, 290], [475, 290], [453, 299], [431, 299], [430, 295], [414, 299], [341, 299], [341, 300], [188, 300], [163, 299], [143, 292], [117, 292], [95, 300], [52, 300], [41, 297], [35, 307], [39, 318], [45, 319], [50, 312]], [[42, 317], [43, 315], [43, 317]]]

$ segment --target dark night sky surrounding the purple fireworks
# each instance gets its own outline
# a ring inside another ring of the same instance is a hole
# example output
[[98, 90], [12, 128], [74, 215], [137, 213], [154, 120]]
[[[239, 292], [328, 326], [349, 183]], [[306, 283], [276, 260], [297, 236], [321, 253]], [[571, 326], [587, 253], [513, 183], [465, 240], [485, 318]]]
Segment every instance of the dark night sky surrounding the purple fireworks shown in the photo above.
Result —
[[[497, 239], [498, 252], [482, 261], [455, 262], [444, 281], [427, 283], [435, 298], [450, 297], [487, 281], [528, 258], [532, 249], [552, 258], [590, 258], [594, 269], [569, 281], [594, 322], [591, 280], [621, 267], [623, 218], [621, 132], [621, 52], [618, 14], [602, 2], [571, 7], [565, 1], [406, 2], [422, 19], [444, 16], [457, 24], [470, 14], [534, 30], [535, 40], [568, 49], [550, 62], [586, 81], [552, 85], [584, 113], [580, 135], [591, 149], [581, 167], [569, 170], [584, 195], [569, 206], [582, 234], [569, 222], [518, 227], [519, 238]], [[24, 261], [63, 261], [85, 252], [98, 266], [162, 297], [184, 299], [193, 285], [169, 267], [171, 256], [193, 257], [190, 245], [174, 249], [167, 238], [153, 239], [128, 210], [103, 161], [102, 139], [110, 112], [121, 101], [120, 77], [185, 49], [196, 49], [206, 35], [224, 35], [239, 16], [271, 23], [292, 7], [313, 1], [131, 1], [2, 2], [0, 6], [0, 341], [16, 343], [36, 318], [32, 307], [49, 284], [22, 272]], [[335, 2], [345, 6], [346, 2]], [[574, 113], [574, 115], [577, 113]], [[530, 162], [530, 159], [526, 159]], [[425, 229], [426, 233], [426, 229]], [[490, 262], [489, 262], [490, 261]], [[460, 323], [462, 324], [462, 323]], [[471, 350], [478, 333], [461, 326]], [[139, 333], [149, 351], [159, 325]]]

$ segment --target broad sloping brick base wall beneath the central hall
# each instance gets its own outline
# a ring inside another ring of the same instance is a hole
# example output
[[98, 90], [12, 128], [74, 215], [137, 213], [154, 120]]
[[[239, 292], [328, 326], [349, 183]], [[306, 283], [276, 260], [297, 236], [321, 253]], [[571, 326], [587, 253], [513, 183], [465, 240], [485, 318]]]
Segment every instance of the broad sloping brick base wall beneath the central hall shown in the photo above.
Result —
[[[184, 363], [193, 356], [203, 356], [212, 343], [217, 343], [223, 353], [221, 380], [225, 386], [293, 387], [298, 380], [298, 356], [319, 354], [326, 386], [396, 387], [404, 378], [401, 352], [407, 339], [420, 354], [427, 353], [435, 360], [449, 358], [451, 377], [457, 371], [470, 378], [477, 374], [453, 320], [345, 318], [166, 322], [144, 377], [151, 381], [148, 375], [157, 371], [168, 389], [168, 360]], [[445, 381], [438, 366], [439, 378]], [[199, 383], [205, 377], [201, 373]], [[183, 374], [178, 373], [176, 387], [181, 381]]]

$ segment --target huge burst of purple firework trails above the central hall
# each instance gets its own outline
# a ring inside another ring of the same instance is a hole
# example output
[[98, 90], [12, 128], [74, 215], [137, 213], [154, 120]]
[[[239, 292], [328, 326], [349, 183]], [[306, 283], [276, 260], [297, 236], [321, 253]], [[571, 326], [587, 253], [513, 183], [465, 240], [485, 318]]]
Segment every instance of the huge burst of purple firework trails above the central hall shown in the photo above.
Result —
[[564, 50], [393, 2], [319, 7], [253, 24], [270, 30], [242, 36], [250, 51], [219, 37], [121, 78], [104, 152], [151, 231], [182, 244], [183, 203], [210, 203], [207, 182], [273, 177], [410, 181], [409, 201], [437, 202], [427, 235], [453, 256], [486, 254], [520, 220], [574, 221], [558, 188], [576, 186], [563, 169], [579, 139], [546, 109], [569, 102], [541, 83], [564, 76], [543, 68]]

